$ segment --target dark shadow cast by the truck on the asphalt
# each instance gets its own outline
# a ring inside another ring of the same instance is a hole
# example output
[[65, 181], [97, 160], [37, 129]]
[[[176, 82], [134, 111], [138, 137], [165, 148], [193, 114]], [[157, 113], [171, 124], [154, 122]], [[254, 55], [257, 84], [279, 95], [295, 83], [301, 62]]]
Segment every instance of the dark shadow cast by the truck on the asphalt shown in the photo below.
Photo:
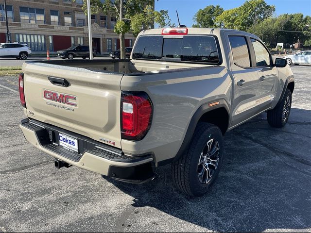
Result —
[[213, 188], [189, 198], [173, 186], [170, 166], [142, 185], [108, 179], [134, 198], [209, 230], [261, 232], [311, 227], [311, 111], [292, 108], [288, 124], [271, 128], [266, 114], [225, 135], [225, 160]]

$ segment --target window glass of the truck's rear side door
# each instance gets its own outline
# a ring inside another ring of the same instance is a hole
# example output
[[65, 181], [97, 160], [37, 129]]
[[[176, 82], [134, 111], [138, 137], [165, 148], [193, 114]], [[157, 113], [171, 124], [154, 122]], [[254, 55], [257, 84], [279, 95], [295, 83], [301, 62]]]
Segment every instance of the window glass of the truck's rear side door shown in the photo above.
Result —
[[251, 67], [249, 50], [244, 36], [229, 36], [234, 64], [240, 67]]

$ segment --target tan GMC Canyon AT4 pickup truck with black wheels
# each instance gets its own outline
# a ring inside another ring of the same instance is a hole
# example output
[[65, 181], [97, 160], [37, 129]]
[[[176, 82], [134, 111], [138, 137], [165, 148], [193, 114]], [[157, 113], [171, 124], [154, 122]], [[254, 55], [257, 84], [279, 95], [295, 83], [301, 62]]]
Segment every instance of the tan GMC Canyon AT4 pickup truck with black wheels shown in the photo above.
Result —
[[20, 128], [57, 168], [143, 183], [172, 164], [190, 196], [217, 178], [225, 132], [262, 112], [283, 127], [294, 91], [285, 59], [227, 29], [145, 30], [130, 60], [28, 61], [22, 72]]

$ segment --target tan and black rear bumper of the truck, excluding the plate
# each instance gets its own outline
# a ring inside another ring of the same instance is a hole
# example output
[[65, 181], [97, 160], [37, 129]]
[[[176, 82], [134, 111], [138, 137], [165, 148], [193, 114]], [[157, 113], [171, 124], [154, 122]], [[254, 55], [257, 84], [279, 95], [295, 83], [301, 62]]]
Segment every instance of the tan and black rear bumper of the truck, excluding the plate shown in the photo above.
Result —
[[[36, 148], [73, 166], [128, 183], [144, 183], [156, 177], [151, 155], [127, 156], [120, 149], [36, 120], [23, 119], [20, 128]], [[58, 133], [76, 138], [79, 153], [60, 146]]]

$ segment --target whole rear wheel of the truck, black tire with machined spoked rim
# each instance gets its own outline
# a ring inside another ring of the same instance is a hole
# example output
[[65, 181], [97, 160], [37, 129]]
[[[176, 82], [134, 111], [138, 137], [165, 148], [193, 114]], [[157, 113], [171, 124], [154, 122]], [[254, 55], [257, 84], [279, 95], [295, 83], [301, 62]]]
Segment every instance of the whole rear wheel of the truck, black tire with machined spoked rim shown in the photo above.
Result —
[[215, 182], [224, 154], [223, 134], [213, 124], [199, 122], [189, 149], [172, 163], [177, 189], [190, 196], [202, 196]]

